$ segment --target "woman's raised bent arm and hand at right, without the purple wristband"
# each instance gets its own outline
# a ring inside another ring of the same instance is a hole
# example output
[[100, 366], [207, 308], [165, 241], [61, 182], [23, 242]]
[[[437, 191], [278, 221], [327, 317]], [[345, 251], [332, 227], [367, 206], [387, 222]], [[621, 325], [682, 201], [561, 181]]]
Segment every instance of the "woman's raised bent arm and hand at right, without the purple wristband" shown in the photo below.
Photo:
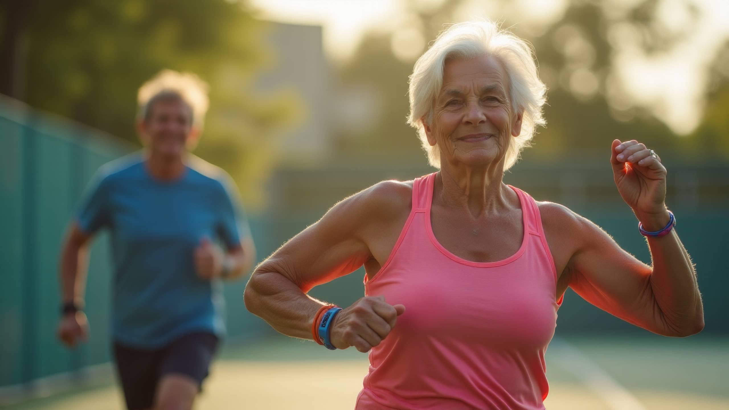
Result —
[[[636, 141], [612, 142], [615, 184], [646, 231], [660, 231], [666, 210], [666, 168]], [[703, 306], [690, 256], [675, 229], [647, 236], [652, 266], [622, 250], [597, 225], [573, 212], [563, 232], [574, 243], [566, 265], [569, 286], [615, 316], [664, 336], [703, 329]], [[564, 214], [564, 213], [563, 213]]]

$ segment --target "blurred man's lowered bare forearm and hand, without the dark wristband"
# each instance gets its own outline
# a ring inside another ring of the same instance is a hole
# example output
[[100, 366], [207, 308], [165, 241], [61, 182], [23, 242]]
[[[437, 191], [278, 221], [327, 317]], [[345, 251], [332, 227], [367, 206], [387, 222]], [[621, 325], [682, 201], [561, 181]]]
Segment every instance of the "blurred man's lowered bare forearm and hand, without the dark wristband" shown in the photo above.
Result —
[[[82, 309], [86, 272], [88, 265], [88, 244], [91, 235], [81, 231], [77, 223], [72, 223], [61, 250], [60, 282], [61, 301], [75, 303]], [[58, 339], [68, 347], [74, 347], [77, 341], [86, 340], [88, 323], [83, 312], [63, 314], [58, 325]]]

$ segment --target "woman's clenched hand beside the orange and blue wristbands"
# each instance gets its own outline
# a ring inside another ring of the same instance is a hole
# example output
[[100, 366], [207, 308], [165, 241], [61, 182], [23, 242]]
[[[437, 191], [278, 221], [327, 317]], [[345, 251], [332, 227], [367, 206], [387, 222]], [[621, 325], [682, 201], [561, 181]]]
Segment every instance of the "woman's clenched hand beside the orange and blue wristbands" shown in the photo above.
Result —
[[369, 352], [385, 339], [403, 313], [405, 306], [392, 306], [384, 296], [360, 298], [334, 317], [332, 345], [337, 349], [354, 346], [360, 352]]

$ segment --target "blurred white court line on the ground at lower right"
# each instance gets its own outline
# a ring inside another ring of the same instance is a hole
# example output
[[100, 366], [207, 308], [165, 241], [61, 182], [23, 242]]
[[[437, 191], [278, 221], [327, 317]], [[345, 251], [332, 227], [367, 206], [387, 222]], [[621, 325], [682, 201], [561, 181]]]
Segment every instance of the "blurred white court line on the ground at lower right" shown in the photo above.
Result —
[[561, 359], [561, 368], [569, 371], [614, 410], [647, 410], [633, 393], [621, 386], [599, 364], [566, 340], [555, 336], [549, 344], [551, 353]]

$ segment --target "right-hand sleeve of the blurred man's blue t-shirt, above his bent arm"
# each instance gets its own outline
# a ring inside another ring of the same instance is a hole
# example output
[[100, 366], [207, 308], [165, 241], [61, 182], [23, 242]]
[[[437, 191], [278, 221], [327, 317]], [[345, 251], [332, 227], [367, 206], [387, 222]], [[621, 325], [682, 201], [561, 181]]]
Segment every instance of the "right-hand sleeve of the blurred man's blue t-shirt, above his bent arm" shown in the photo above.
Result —
[[238, 194], [233, 180], [227, 177], [220, 183], [223, 189], [217, 233], [225, 245], [230, 248], [238, 246], [241, 244], [241, 239], [250, 236], [251, 229], [241, 204], [241, 196]]

